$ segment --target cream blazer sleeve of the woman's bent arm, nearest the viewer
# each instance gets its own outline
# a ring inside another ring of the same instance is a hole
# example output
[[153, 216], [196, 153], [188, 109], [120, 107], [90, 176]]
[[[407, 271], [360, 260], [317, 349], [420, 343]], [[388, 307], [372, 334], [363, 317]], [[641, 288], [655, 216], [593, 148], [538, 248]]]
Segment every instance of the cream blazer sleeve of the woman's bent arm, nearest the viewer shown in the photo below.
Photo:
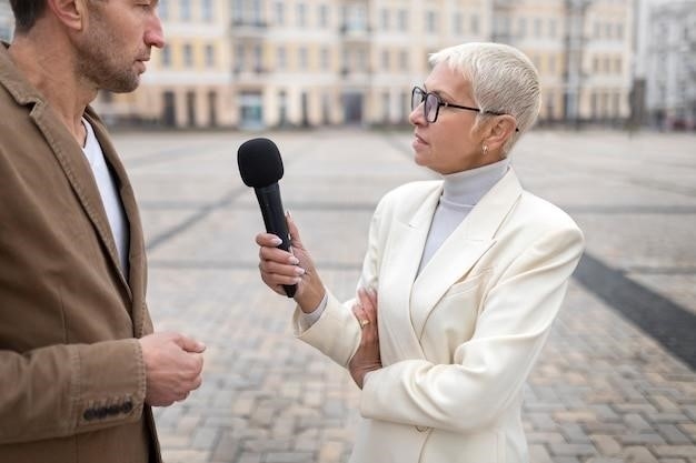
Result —
[[454, 432], [495, 421], [534, 366], [581, 252], [575, 227], [536, 239], [488, 291], [474, 336], [455, 350], [454, 363], [406, 360], [371, 372], [362, 416]]

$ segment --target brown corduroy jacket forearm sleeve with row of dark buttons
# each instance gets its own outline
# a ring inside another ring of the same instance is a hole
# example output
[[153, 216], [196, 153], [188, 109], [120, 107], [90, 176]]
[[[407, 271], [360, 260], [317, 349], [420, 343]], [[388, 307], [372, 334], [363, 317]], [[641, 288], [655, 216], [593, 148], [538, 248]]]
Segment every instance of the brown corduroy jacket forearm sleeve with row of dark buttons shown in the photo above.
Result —
[[63, 437], [140, 419], [146, 378], [135, 340], [0, 350], [0, 444]]

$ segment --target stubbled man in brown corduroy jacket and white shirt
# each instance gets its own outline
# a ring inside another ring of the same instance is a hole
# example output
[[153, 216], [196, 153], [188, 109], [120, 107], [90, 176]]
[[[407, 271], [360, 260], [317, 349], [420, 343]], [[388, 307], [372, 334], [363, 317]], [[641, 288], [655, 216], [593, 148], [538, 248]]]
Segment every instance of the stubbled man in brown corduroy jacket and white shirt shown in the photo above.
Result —
[[0, 47], [0, 462], [160, 462], [151, 406], [205, 346], [152, 333], [142, 229], [99, 118], [162, 48], [157, 0], [10, 0]]

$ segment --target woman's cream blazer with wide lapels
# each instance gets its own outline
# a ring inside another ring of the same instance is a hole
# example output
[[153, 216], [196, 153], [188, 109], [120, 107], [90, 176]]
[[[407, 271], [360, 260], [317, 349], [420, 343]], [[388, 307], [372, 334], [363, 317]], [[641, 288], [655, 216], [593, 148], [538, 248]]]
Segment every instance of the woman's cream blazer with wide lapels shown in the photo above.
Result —
[[[560, 209], [513, 170], [417, 270], [441, 181], [389, 192], [374, 214], [360, 285], [378, 293], [384, 368], [369, 373], [351, 463], [521, 463], [523, 385], [583, 252]], [[297, 335], [347, 366], [360, 326], [329, 293]]]

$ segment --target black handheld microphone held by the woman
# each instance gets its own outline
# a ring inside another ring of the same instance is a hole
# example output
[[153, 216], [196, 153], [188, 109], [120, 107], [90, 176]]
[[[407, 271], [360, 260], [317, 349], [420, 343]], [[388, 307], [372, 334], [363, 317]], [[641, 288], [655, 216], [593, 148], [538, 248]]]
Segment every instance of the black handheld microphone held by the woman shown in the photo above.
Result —
[[[282, 179], [282, 159], [278, 147], [265, 138], [245, 141], [237, 151], [237, 163], [241, 180], [256, 192], [266, 231], [282, 240], [278, 248], [290, 251], [290, 234], [278, 185]], [[282, 288], [288, 298], [292, 298], [297, 290], [296, 284], [284, 284]]]

